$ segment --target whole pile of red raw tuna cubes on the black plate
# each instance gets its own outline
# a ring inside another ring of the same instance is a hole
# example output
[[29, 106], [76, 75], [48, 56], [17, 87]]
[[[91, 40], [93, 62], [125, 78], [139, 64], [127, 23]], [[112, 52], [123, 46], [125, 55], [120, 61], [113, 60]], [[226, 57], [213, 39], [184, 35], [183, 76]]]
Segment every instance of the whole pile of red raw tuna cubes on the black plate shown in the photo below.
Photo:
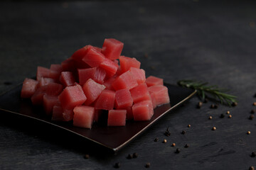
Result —
[[124, 44], [105, 39], [102, 48], [86, 45], [61, 64], [38, 67], [36, 80], [25, 79], [21, 98], [31, 98], [55, 121], [92, 128], [102, 111], [108, 126], [150, 120], [154, 108], [169, 103], [163, 79], [150, 76], [135, 58], [120, 56]]

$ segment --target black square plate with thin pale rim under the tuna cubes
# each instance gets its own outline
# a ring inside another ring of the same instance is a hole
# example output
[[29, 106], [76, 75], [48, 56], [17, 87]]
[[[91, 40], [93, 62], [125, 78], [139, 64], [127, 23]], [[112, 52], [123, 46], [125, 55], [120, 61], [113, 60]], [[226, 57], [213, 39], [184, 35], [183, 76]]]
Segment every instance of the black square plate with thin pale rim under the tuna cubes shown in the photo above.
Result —
[[[89, 130], [74, 127], [72, 123], [51, 121], [50, 118], [43, 114], [43, 108], [34, 107], [31, 101], [20, 98], [22, 84], [0, 96], [0, 114], [14, 114], [26, 117], [31, 121], [41, 121], [41, 123], [47, 123], [68, 132], [73, 132], [75, 135], [84, 137], [91, 142], [117, 152], [117, 150], [127, 145], [127, 143], [134, 140], [135, 137], [153, 125], [153, 123], [156, 123], [163, 115], [174, 110], [174, 108], [196, 94], [196, 91], [191, 89], [184, 89], [171, 84], [165, 84], [165, 86], [169, 89], [170, 103], [155, 108], [151, 120], [127, 121], [127, 125], [124, 127], [107, 127], [94, 124], [92, 129]], [[22, 125], [22, 122], [20, 123]]]

